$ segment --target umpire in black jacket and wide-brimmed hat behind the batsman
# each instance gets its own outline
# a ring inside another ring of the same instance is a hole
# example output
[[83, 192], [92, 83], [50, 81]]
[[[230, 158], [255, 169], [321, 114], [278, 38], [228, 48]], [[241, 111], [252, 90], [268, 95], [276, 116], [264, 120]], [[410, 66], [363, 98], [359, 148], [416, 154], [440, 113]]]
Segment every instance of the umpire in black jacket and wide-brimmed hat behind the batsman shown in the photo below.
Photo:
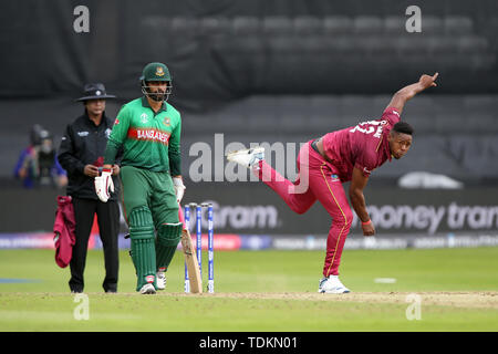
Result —
[[107, 138], [114, 124], [114, 119], [105, 115], [105, 100], [114, 97], [105, 92], [102, 83], [86, 84], [83, 96], [76, 100], [83, 102], [84, 114], [66, 126], [59, 150], [59, 162], [68, 171], [66, 195], [72, 197], [76, 221], [76, 242], [73, 247], [70, 263], [71, 280], [69, 281], [71, 292], [75, 293], [83, 292], [86, 251], [95, 214], [104, 248], [105, 279], [102, 285], [105, 292], [117, 291], [117, 236], [120, 232], [117, 175], [120, 174], [121, 152], [113, 166], [115, 190], [110, 200], [102, 202], [97, 198], [94, 187], [94, 177], [98, 176], [102, 170]]

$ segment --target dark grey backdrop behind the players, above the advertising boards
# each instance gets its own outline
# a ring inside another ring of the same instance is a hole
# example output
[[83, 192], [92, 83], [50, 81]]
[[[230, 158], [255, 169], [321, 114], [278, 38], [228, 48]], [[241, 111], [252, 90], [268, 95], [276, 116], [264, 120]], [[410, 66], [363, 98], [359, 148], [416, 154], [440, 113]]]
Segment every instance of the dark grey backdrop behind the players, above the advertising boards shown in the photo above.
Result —
[[[73, 30], [79, 4], [90, 10], [89, 33]], [[422, 9], [422, 33], [405, 30], [412, 4]], [[59, 145], [83, 112], [74, 100], [95, 81], [117, 95], [107, 101], [115, 116], [141, 95], [138, 76], [152, 61], [168, 65], [169, 103], [183, 116], [185, 201], [273, 205], [288, 225], [279, 233], [303, 233], [308, 221], [326, 230], [319, 207], [295, 217], [264, 186], [194, 183], [190, 147], [214, 146], [216, 133], [225, 144], [303, 143], [378, 117], [394, 92], [434, 72], [438, 87], [403, 113], [416, 131], [412, 150], [375, 170], [367, 202], [437, 204], [430, 190], [396, 186], [416, 170], [463, 181], [448, 197], [461, 205], [498, 197], [496, 1], [21, 0], [0, 4], [0, 231], [50, 230], [53, 197], [63, 194], [23, 190], [12, 177], [31, 126], [46, 127]]]

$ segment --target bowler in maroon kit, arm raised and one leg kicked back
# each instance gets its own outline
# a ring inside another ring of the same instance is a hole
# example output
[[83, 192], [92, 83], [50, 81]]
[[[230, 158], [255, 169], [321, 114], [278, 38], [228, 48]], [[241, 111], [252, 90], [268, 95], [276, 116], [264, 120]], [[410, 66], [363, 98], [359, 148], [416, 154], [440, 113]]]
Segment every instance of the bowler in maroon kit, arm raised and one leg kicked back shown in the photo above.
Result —
[[401, 121], [403, 107], [417, 93], [436, 86], [437, 76], [437, 73], [433, 76], [424, 74], [418, 82], [396, 92], [381, 118], [331, 132], [304, 144], [299, 152], [299, 175], [294, 183], [264, 162], [262, 147], [228, 154], [229, 160], [252, 168], [258, 178], [297, 214], [308, 211], [319, 200], [331, 216], [319, 292], [350, 292], [339, 280], [341, 254], [353, 221], [343, 183], [351, 181], [349, 197], [362, 222], [363, 235], [373, 236], [375, 227], [366, 210], [363, 189], [375, 168], [408, 152], [414, 131]]

